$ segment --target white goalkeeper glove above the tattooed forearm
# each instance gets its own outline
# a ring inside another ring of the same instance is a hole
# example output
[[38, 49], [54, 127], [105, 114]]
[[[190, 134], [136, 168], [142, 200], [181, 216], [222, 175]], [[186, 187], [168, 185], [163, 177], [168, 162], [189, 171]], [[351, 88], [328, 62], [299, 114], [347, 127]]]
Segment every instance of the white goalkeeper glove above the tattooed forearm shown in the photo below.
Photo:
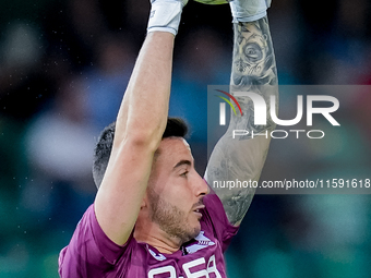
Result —
[[266, 15], [272, 0], [232, 0], [229, 2], [234, 23], [258, 21]]

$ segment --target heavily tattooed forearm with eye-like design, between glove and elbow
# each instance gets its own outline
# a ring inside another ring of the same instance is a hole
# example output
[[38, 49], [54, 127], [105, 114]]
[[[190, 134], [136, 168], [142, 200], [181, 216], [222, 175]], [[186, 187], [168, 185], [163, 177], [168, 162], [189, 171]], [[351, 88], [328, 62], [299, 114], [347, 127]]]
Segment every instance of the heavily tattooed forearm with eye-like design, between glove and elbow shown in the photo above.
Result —
[[[270, 97], [276, 96], [278, 82], [276, 62], [267, 17], [251, 23], [235, 24], [235, 47], [230, 92], [252, 92], [265, 99], [270, 111]], [[267, 112], [266, 125], [254, 125], [254, 107], [249, 97], [237, 97], [244, 117], [231, 117], [229, 130], [247, 130], [250, 135], [264, 130], [274, 130], [275, 124]], [[277, 108], [276, 108], [277, 109]], [[240, 140], [251, 136], [240, 137]]]

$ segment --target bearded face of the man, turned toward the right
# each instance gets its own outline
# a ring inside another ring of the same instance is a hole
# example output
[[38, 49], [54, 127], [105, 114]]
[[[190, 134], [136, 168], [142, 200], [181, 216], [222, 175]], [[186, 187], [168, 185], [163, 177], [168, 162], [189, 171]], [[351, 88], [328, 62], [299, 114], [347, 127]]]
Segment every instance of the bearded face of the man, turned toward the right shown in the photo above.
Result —
[[199, 210], [208, 188], [183, 138], [163, 140], [158, 153], [147, 189], [149, 217], [170, 238], [187, 242], [200, 233]]

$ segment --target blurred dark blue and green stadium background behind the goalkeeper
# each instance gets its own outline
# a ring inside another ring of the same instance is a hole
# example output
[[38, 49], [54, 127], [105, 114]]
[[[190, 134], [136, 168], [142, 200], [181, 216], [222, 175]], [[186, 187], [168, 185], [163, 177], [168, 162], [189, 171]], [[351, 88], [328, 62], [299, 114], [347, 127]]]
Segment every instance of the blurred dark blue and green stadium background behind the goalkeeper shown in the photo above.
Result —
[[[371, 2], [277, 0], [280, 84], [371, 84]], [[99, 131], [115, 120], [145, 37], [147, 0], [0, 2], [0, 278], [58, 277], [58, 254], [96, 193]], [[191, 1], [175, 50], [170, 114], [206, 166], [207, 85], [228, 84], [228, 5]], [[273, 141], [264, 180], [370, 177], [371, 93], [336, 96], [326, 141]], [[280, 96], [280, 114], [292, 108]], [[292, 114], [288, 114], [290, 117]], [[229, 277], [370, 277], [370, 195], [256, 195], [227, 252]]]

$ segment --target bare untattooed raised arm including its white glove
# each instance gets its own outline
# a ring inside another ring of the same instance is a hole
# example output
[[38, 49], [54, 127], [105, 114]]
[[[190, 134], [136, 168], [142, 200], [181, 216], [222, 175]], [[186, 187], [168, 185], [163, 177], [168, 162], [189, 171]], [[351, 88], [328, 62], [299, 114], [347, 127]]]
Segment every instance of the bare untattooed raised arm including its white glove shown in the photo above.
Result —
[[97, 220], [117, 244], [127, 242], [135, 225], [166, 128], [173, 40], [182, 7], [180, 0], [153, 3], [148, 34], [117, 117], [112, 152], [95, 200]]

